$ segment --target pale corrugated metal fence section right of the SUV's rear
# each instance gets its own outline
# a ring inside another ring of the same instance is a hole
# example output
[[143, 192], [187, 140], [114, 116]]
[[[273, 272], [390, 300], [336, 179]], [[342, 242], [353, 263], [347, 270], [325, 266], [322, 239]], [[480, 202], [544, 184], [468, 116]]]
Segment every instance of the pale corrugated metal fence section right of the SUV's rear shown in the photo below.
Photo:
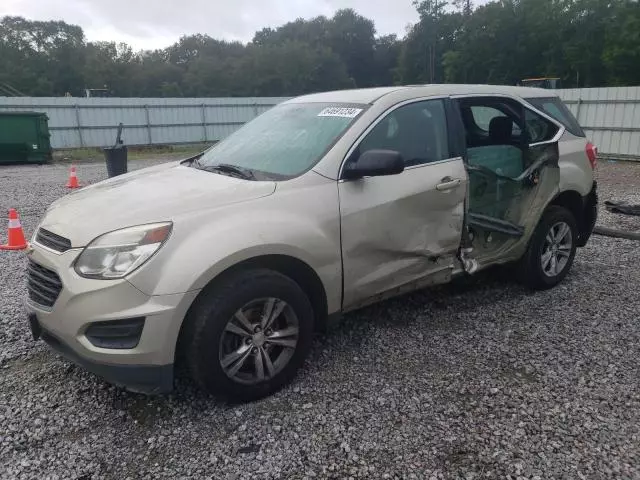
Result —
[[640, 87], [557, 92], [601, 155], [640, 160]]

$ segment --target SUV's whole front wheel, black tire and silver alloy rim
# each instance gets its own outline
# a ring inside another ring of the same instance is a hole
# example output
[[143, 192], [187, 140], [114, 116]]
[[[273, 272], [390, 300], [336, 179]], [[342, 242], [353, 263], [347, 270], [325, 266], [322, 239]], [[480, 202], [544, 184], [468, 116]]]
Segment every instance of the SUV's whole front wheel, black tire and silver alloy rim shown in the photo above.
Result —
[[193, 379], [211, 393], [253, 400], [293, 378], [311, 345], [314, 314], [293, 280], [250, 270], [203, 293], [187, 321]]

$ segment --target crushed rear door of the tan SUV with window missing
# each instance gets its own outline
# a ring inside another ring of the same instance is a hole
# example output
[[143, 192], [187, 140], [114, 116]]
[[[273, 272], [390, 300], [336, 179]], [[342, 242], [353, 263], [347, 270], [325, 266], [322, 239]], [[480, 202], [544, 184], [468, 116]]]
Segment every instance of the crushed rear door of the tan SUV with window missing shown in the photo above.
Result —
[[559, 191], [564, 127], [510, 97], [457, 102], [466, 132], [473, 257], [481, 264], [510, 260]]

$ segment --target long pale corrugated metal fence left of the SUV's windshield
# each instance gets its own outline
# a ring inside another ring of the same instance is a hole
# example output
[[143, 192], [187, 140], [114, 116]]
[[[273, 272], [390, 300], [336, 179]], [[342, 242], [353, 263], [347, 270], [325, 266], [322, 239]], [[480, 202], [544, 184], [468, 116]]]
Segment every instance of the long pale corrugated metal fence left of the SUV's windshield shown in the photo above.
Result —
[[0, 97], [0, 109], [45, 112], [53, 148], [82, 148], [113, 145], [120, 122], [127, 145], [212, 142], [284, 100]]

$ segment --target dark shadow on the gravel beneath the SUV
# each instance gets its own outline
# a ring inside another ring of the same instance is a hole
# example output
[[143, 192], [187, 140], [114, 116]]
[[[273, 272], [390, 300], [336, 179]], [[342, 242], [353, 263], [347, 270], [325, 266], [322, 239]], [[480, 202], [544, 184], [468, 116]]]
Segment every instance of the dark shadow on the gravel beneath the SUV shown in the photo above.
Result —
[[[477, 310], [485, 305], [495, 304], [509, 295], [513, 300], [533, 295], [524, 287], [514, 284], [509, 272], [492, 269], [473, 277], [463, 277], [452, 283], [431, 287], [375, 305], [345, 314], [338, 322], [318, 333], [314, 339], [312, 350], [302, 371], [287, 389], [296, 389], [301, 377], [318, 365], [331, 362], [331, 350], [340, 346], [341, 354], [345, 351], [356, 352], [358, 347], [369, 340], [375, 329], [408, 328], [420, 324], [421, 328], [442, 334], [445, 331], [457, 331], [463, 328], [461, 313]], [[89, 375], [89, 374], [87, 374]], [[188, 406], [197, 412], [210, 411], [212, 408], [229, 409], [239, 404], [229, 399], [214, 397], [200, 390], [188, 377], [183, 366], [176, 372], [174, 390], [170, 394], [147, 396], [128, 392], [122, 388], [111, 386], [102, 380], [99, 385], [97, 399], [109, 402], [111, 408], [122, 417], [135, 420], [140, 425], [151, 427], [159, 419], [171, 416], [176, 409]], [[252, 402], [278, 401], [278, 394], [263, 400]]]

